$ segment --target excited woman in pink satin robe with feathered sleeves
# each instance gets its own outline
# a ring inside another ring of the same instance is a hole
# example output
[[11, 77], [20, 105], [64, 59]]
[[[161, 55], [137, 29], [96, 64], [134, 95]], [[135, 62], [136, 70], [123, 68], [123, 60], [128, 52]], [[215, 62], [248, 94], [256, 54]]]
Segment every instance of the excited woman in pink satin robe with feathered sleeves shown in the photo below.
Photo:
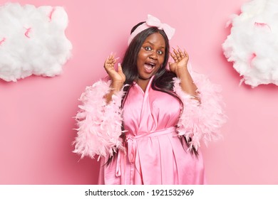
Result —
[[205, 183], [200, 139], [211, 140], [225, 116], [212, 87], [197, 89], [195, 81], [208, 82], [193, 82], [186, 51], [169, 53], [174, 32], [149, 15], [133, 28], [118, 71], [109, 55], [110, 80], [81, 96], [75, 152], [102, 156], [99, 184]]

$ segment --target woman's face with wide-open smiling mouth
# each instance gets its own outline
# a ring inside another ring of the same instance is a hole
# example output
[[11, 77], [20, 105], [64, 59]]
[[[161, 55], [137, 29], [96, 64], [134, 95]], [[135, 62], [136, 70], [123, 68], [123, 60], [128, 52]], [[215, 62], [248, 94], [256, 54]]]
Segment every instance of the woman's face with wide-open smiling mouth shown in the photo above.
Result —
[[163, 65], [164, 58], [164, 38], [160, 33], [153, 33], [145, 39], [138, 53], [137, 68], [140, 79], [150, 79]]

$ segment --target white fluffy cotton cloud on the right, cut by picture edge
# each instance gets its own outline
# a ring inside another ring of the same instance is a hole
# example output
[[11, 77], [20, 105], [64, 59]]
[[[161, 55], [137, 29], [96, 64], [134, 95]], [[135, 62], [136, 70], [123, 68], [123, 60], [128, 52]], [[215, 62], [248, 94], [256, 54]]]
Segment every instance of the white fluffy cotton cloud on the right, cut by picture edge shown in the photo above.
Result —
[[225, 57], [243, 76], [241, 82], [278, 85], [278, 0], [249, 1], [241, 11], [222, 44]]

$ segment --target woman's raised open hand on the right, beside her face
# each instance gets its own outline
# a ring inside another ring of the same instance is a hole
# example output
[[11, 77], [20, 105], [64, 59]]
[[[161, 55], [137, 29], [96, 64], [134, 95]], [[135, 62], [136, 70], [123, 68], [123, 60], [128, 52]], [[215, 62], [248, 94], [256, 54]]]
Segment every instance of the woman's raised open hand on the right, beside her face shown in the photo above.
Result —
[[180, 50], [180, 48], [173, 48], [173, 53], [170, 53], [171, 57], [174, 59], [175, 63], [169, 63], [169, 68], [172, 72], [175, 72], [177, 77], [180, 77], [179, 69], [187, 70], [187, 63], [189, 60], [189, 56], [187, 52], [184, 50]]

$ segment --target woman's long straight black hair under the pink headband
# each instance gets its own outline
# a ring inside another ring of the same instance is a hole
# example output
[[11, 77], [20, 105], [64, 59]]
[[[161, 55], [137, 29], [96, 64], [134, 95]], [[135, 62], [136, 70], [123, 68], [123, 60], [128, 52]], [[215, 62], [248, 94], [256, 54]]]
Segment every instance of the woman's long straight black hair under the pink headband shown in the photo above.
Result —
[[[140, 22], [136, 26], [134, 26], [131, 29], [130, 33], [133, 33], [133, 31], [135, 31], [135, 29], [143, 23], [145, 22]], [[181, 99], [173, 91], [174, 88], [173, 77], [177, 77], [177, 76], [175, 75], [174, 72], [171, 72], [166, 69], [168, 65], [169, 55], [170, 55], [170, 44], [169, 44], [168, 37], [166, 36], [163, 30], [160, 30], [157, 27], [150, 27], [138, 33], [138, 35], [135, 36], [133, 40], [130, 42], [128, 49], [125, 51], [125, 55], [123, 57], [123, 61], [121, 65], [123, 68], [123, 73], [125, 74], [124, 85], [126, 86], [123, 88], [124, 96], [122, 99], [121, 108], [123, 108], [125, 104], [125, 97], [128, 95], [128, 91], [130, 90], [130, 87], [132, 87], [133, 82], [138, 79], [139, 74], [137, 68], [137, 58], [138, 58], [138, 53], [140, 51], [140, 48], [142, 47], [145, 39], [148, 38], [148, 36], [152, 35], [153, 33], [160, 33], [164, 38], [165, 58], [162, 67], [159, 68], [159, 70], [155, 73], [155, 77], [153, 78], [151, 87], [153, 90], [158, 90], [160, 92], [165, 92], [169, 95], [172, 95], [173, 97], [175, 97], [177, 100], [180, 101], [180, 104], [182, 104]], [[183, 108], [183, 104], [182, 104], [182, 108]], [[123, 124], [122, 124], [122, 130], [124, 131]], [[123, 139], [123, 145], [125, 146], [125, 133], [121, 134], [120, 137]], [[185, 138], [182, 136], [181, 139], [185, 139]], [[185, 141], [188, 145], [186, 139]], [[195, 149], [192, 150], [192, 153], [194, 153], [197, 156], [197, 151]], [[112, 161], [112, 158], [113, 156], [108, 158], [107, 161], [108, 164]]]

